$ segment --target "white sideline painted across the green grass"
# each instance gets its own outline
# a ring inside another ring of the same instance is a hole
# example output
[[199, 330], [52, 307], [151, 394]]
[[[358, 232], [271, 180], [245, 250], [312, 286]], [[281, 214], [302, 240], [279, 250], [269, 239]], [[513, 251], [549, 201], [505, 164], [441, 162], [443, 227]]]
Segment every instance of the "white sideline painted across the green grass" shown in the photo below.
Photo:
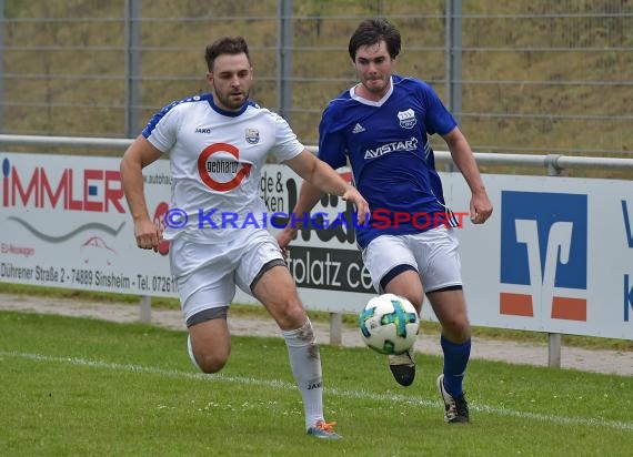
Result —
[[[223, 374], [205, 375], [202, 373], [179, 372], [175, 369], [162, 369], [162, 368], [154, 368], [151, 366], [141, 366], [132, 364], [115, 364], [102, 360], [90, 360], [78, 357], [56, 357], [43, 354], [4, 352], [4, 351], [0, 351], [0, 357], [28, 358], [37, 362], [52, 362], [52, 363], [61, 363], [68, 365], [89, 366], [94, 368], [105, 368], [119, 372], [153, 374], [153, 375], [179, 377], [187, 379], [215, 380], [222, 383], [239, 383], [247, 385], [268, 386], [284, 390], [297, 389], [297, 386], [294, 384], [279, 379], [267, 380], [267, 379], [258, 379], [258, 378], [243, 377], [243, 376], [225, 376]], [[328, 393], [328, 395], [333, 395], [342, 398], [360, 398], [360, 399], [371, 399], [375, 402], [389, 402], [389, 403], [400, 402], [400, 403], [408, 403], [411, 405], [420, 405], [433, 408], [436, 408], [440, 404], [440, 400], [431, 402], [411, 395], [372, 394], [362, 389], [341, 390], [336, 388], [325, 388], [325, 392]], [[504, 407], [488, 406], [476, 403], [469, 404], [469, 406], [472, 410], [480, 413], [488, 413], [498, 416], [519, 417], [522, 419], [531, 419], [531, 420], [539, 420], [539, 422], [554, 423], [554, 424], [583, 425], [587, 427], [606, 427], [606, 428], [614, 428], [617, 430], [633, 430], [633, 423], [625, 423], [621, 420], [604, 420], [599, 417], [584, 418], [584, 417], [552, 416], [546, 414], [520, 412]]]

